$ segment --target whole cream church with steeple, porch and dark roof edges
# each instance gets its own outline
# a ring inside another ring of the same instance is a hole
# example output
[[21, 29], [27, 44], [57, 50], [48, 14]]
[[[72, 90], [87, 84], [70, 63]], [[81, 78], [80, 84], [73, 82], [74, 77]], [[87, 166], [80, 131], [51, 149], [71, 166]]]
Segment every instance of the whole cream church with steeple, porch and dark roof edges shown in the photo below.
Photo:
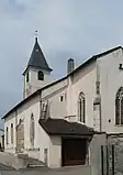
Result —
[[123, 132], [123, 48], [93, 55], [78, 67], [69, 58], [67, 75], [56, 81], [52, 72], [35, 37], [23, 100], [2, 117], [4, 152], [27, 154], [48, 167], [83, 165], [91, 162], [92, 145], [105, 144], [96, 136]]

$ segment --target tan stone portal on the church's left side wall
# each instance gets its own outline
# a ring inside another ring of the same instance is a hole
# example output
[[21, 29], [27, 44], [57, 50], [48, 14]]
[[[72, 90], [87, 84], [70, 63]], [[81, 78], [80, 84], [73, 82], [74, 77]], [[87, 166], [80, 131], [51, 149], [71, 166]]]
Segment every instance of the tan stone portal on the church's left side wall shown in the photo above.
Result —
[[22, 153], [24, 150], [24, 122], [20, 120], [16, 127], [16, 152]]

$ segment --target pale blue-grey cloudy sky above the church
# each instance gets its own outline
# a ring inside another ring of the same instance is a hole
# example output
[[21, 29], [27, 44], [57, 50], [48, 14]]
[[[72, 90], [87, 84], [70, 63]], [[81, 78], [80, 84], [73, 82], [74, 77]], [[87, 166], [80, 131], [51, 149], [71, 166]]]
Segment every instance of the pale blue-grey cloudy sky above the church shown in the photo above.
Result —
[[53, 78], [60, 78], [69, 57], [78, 66], [123, 44], [123, 0], [0, 0], [1, 117], [22, 99], [35, 30]]

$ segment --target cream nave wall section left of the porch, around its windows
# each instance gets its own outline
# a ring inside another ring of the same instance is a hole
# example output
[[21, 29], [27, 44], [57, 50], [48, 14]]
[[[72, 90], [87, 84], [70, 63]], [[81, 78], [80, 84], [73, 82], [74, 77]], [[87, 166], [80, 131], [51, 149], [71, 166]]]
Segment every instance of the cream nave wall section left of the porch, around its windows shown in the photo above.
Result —
[[[30, 124], [31, 124], [31, 114], [34, 116], [35, 123], [35, 139], [34, 139], [34, 149], [37, 150], [40, 147], [38, 144], [38, 119], [40, 119], [40, 96], [34, 97], [30, 101], [25, 102], [23, 106], [18, 108], [18, 110], [13, 111], [5, 120], [4, 120], [4, 130], [7, 127], [9, 128], [9, 144], [4, 144], [7, 152], [14, 152], [16, 146], [16, 132], [15, 125], [19, 124], [20, 119], [24, 122], [24, 151], [29, 151], [32, 149], [30, 141]], [[11, 143], [11, 123], [13, 123], [13, 144]], [[5, 132], [4, 132], [5, 133]], [[4, 142], [5, 142], [4, 134]]]

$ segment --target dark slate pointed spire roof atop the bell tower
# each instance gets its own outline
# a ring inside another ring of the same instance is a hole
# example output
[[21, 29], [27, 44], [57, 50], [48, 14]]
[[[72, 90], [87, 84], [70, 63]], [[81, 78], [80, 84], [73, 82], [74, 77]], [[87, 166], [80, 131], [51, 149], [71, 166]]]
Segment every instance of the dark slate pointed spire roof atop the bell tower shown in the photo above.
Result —
[[[46, 72], [52, 72], [53, 69], [48, 66], [46, 59], [45, 59], [45, 56], [41, 50], [41, 46], [38, 44], [38, 41], [37, 41], [37, 37], [35, 37], [35, 44], [34, 44], [34, 47], [33, 47], [33, 52], [31, 54], [31, 57], [30, 57], [30, 61], [29, 61], [29, 64], [27, 64], [27, 67], [36, 67], [36, 68], [42, 68]], [[25, 72], [26, 72], [25, 69]], [[25, 74], [25, 72], [23, 73], [23, 75]]]

